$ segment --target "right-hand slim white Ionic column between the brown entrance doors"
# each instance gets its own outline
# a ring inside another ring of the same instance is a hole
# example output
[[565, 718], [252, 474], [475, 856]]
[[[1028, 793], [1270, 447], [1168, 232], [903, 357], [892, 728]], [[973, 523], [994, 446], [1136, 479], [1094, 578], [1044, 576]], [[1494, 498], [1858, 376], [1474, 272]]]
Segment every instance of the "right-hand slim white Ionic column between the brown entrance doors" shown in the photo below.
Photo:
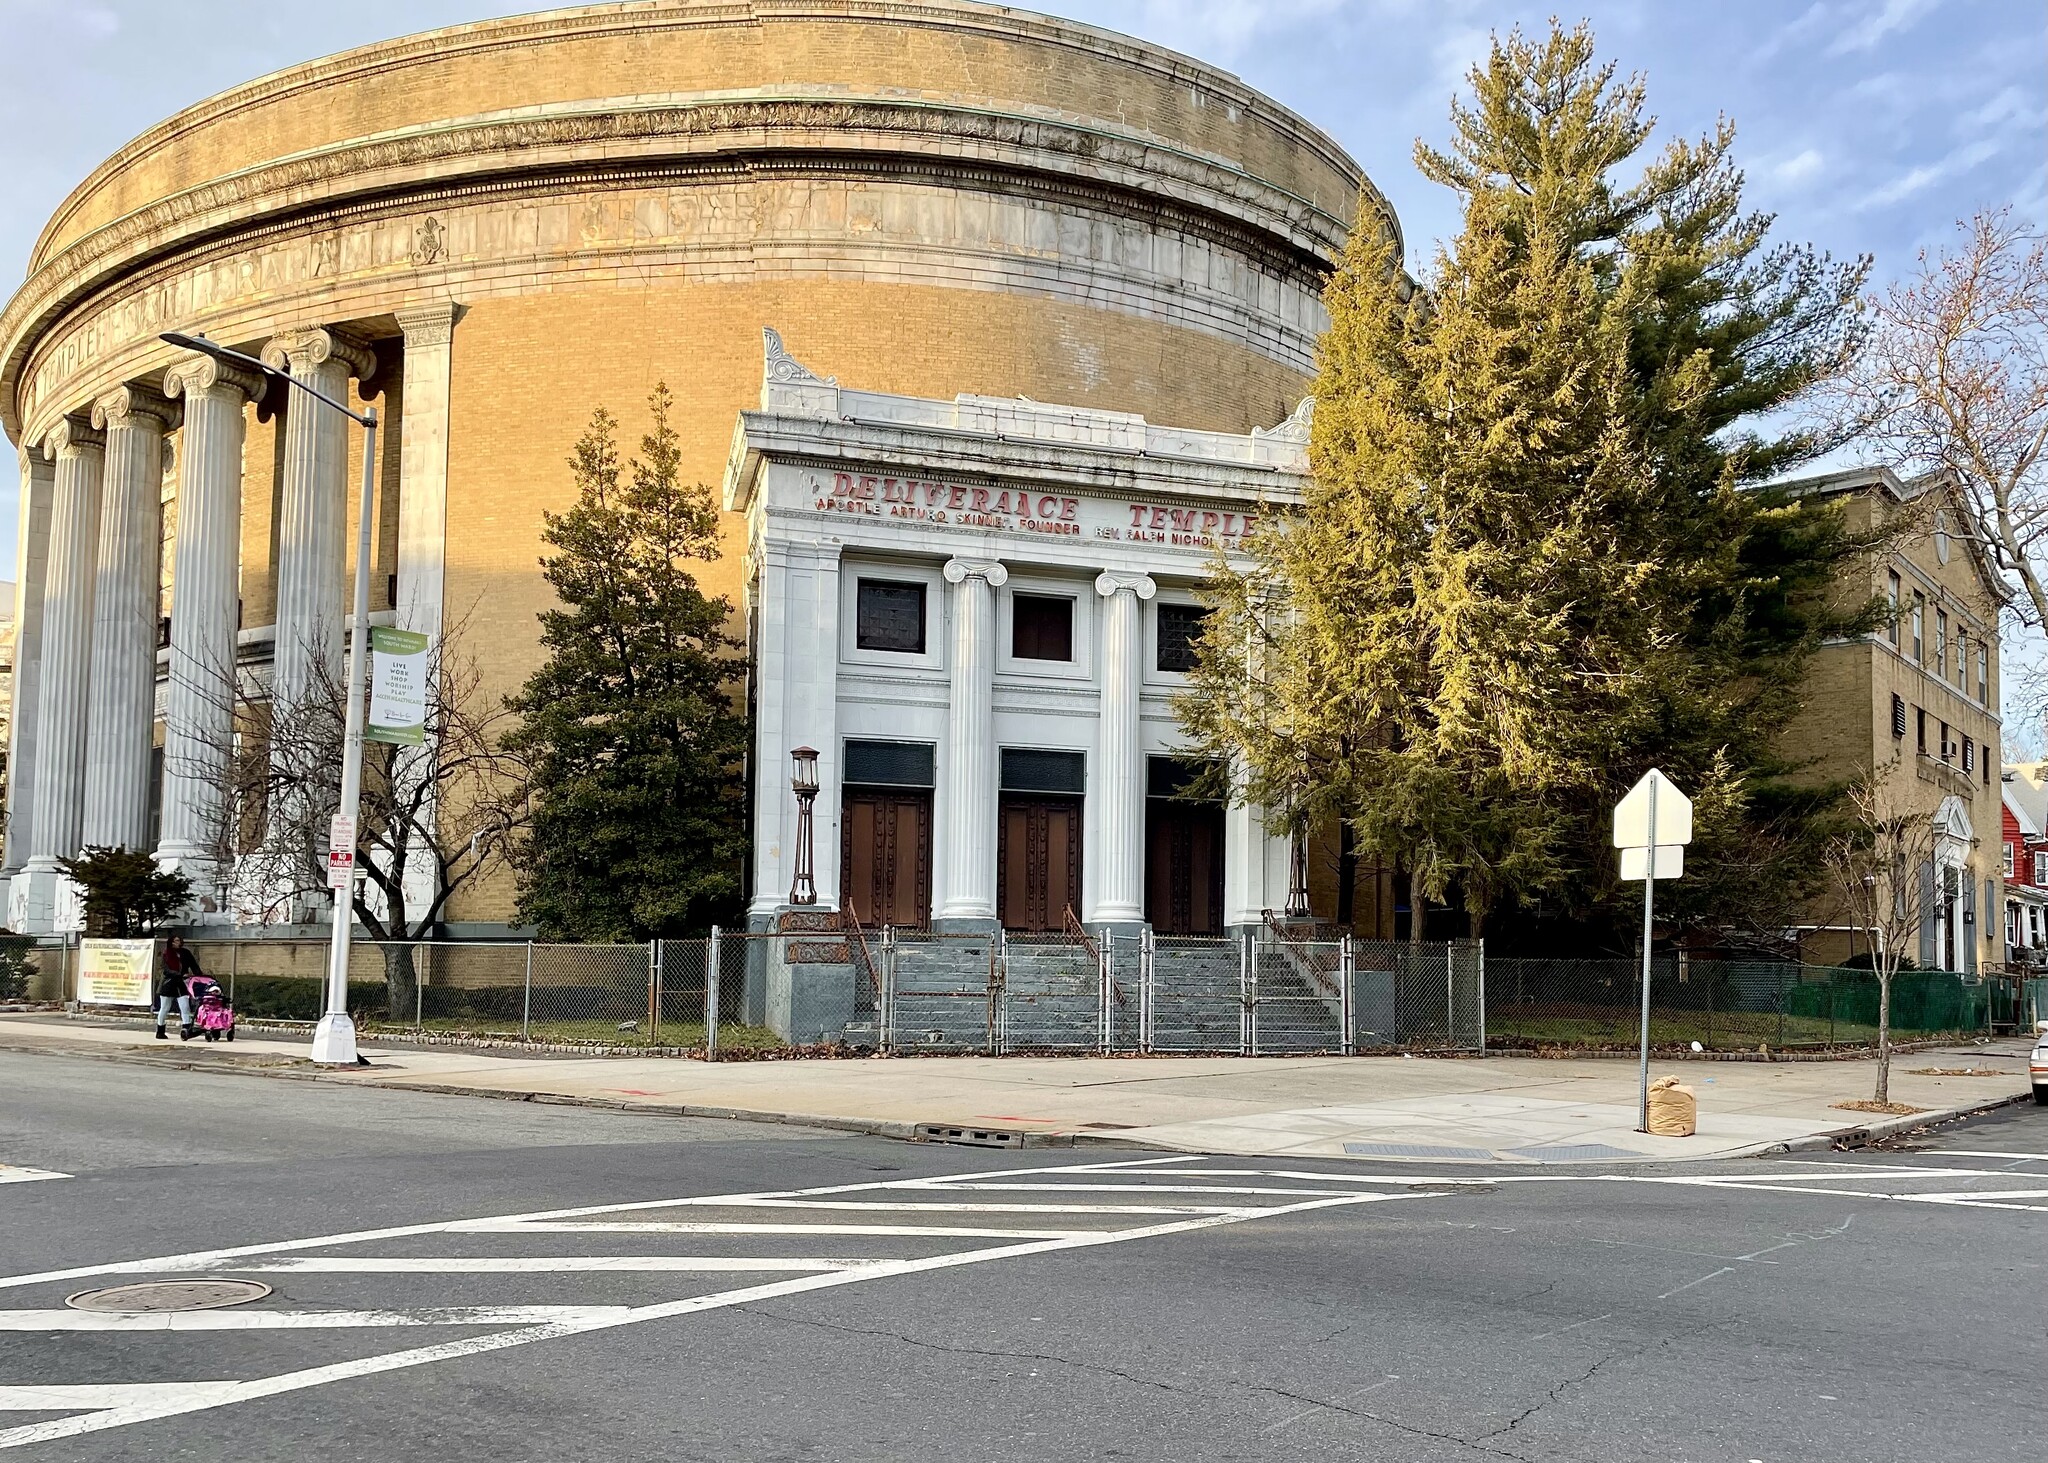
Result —
[[1145, 600], [1157, 586], [1145, 574], [1096, 578], [1102, 607], [1100, 760], [1090, 799], [1102, 807], [1102, 856], [1094, 918], [1135, 924], [1145, 918], [1145, 758], [1139, 744], [1139, 697], [1145, 688]]

